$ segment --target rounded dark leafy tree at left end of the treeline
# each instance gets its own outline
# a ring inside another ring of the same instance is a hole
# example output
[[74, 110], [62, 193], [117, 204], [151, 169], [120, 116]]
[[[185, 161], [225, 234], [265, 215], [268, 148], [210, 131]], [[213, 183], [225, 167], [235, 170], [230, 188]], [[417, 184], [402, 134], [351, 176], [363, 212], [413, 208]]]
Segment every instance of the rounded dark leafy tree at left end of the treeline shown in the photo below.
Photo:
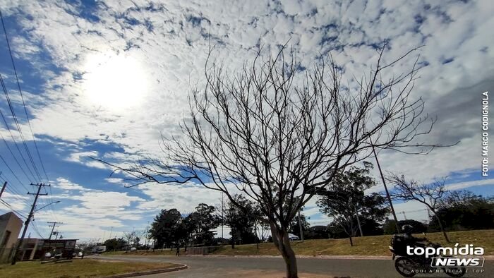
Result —
[[174, 246], [174, 242], [179, 236], [179, 227], [181, 225], [182, 216], [176, 209], [161, 210], [156, 215], [154, 222], [149, 230], [150, 238], [154, 238], [156, 245], [160, 248], [163, 246], [169, 248]]

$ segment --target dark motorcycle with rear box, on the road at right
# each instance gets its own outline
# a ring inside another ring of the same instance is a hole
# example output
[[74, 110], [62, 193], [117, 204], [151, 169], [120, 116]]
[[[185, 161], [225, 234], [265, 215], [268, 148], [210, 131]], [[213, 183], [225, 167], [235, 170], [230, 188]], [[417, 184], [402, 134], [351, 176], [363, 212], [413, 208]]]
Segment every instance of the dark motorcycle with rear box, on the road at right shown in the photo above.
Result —
[[[422, 255], [408, 255], [404, 251], [404, 248], [399, 248], [399, 242], [404, 243], [406, 241], [404, 238], [400, 239], [399, 235], [394, 235], [389, 246], [393, 254], [392, 260], [396, 258], [394, 260], [394, 268], [399, 274], [402, 274], [404, 277], [414, 277], [416, 274], [437, 273], [440, 270], [438, 267], [431, 266], [433, 258], [426, 258], [426, 256]], [[440, 244], [430, 243], [429, 241], [424, 246], [441, 247]], [[462, 277], [465, 272], [465, 267], [442, 267], [441, 273], [445, 273], [451, 277]]]

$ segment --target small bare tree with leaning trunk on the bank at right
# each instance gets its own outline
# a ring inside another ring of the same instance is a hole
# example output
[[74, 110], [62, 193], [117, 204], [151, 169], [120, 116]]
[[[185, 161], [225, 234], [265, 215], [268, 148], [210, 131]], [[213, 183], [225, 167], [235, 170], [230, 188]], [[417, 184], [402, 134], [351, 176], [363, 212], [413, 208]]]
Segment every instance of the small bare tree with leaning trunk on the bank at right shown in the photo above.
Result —
[[447, 193], [444, 179], [441, 181], [435, 180], [432, 183], [418, 183], [414, 180], [406, 181], [405, 176], [403, 175], [390, 174], [390, 176], [387, 177], [387, 180], [394, 185], [394, 188], [390, 193], [392, 199], [404, 201], [416, 200], [426, 205], [429, 210], [433, 212], [435, 218], [438, 219], [445, 240], [449, 243], [450, 239], [447, 238], [446, 231], [436, 212], [441, 198]]

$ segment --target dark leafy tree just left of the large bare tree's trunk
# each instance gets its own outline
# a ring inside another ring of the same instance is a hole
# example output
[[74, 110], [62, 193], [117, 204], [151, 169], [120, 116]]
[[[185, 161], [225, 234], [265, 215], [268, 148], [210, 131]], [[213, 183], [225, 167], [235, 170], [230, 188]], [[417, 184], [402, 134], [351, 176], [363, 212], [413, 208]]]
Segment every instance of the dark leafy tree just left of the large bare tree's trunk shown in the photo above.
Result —
[[255, 243], [258, 241], [255, 235], [255, 224], [260, 217], [260, 212], [251, 200], [247, 200], [243, 195], [236, 194], [229, 201], [223, 213], [222, 222], [231, 229], [231, 248], [235, 248], [235, 241], [243, 244]]

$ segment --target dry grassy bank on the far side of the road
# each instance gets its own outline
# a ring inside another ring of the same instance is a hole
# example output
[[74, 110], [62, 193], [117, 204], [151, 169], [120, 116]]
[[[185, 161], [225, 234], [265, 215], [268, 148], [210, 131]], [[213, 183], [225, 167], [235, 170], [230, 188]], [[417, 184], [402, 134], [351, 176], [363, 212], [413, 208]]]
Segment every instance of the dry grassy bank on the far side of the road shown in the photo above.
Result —
[[[494, 230], [478, 231], [452, 231], [447, 233], [452, 243], [447, 244], [442, 233], [427, 234], [429, 241], [440, 243], [442, 246], [454, 246], [459, 243], [459, 247], [464, 244], [474, 244], [476, 247], [483, 247], [485, 255], [494, 255]], [[421, 234], [415, 236], [423, 237]], [[354, 246], [350, 246], [348, 238], [341, 239], [313, 239], [292, 241], [296, 255], [391, 255], [387, 248], [390, 244], [390, 235], [386, 236], [363, 236], [353, 238]], [[255, 244], [235, 246], [223, 246], [213, 255], [279, 255], [273, 243], [260, 243], [259, 249]]]

